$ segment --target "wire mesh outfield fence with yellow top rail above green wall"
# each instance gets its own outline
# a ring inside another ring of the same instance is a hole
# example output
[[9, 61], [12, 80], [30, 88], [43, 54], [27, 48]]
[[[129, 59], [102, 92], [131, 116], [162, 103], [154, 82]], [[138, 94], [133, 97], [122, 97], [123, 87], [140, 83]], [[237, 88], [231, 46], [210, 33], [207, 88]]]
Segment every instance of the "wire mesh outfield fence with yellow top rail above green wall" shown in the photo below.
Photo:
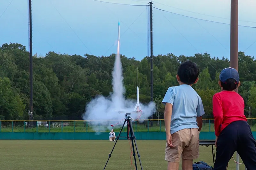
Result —
[[[0, 121], [0, 132], [109, 132], [113, 128], [116, 132], [120, 131], [124, 121], [104, 120], [109, 122], [103, 126], [103, 120], [73, 120], [73, 121]], [[214, 119], [203, 119], [202, 132], [214, 132]], [[98, 123], [98, 125], [96, 125]], [[110, 123], [119, 122], [114, 127]], [[153, 122], [153, 125], [152, 123]], [[248, 118], [248, 123], [252, 131], [256, 131], [256, 118]], [[132, 122], [134, 132], [164, 132], [164, 119], [145, 119]], [[124, 127], [124, 132], [127, 128]]]

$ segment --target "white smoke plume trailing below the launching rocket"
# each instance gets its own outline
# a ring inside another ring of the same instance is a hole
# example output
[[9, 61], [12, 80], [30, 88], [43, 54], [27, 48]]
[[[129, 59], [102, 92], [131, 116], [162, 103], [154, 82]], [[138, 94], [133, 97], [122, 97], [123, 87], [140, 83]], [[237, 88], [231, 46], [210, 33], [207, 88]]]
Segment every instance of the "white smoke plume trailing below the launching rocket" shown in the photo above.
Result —
[[[122, 126], [124, 123], [125, 113], [131, 113], [132, 119], [140, 120], [148, 119], [155, 112], [155, 103], [150, 102], [147, 105], [140, 103], [142, 113], [135, 113], [135, 100], [125, 99], [124, 83], [122, 74], [122, 63], [119, 54], [119, 42], [117, 44], [117, 55], [115, 59], [114, 70], [112, 72], [113, 93], [109, 97], [98, 96], [89, 102], [85, 108], [83, 115], [84, 120], [91, 124], [91, 127], [96, 132], [102, 132], [106, 129], [111, 129], [110, 125]], [[134, 91], [136, 92], [136, 87]], [[120, 113], [121, 112], [121, 113]], [[116, 124], [120, 122], [119, 124]], [[143, 122], [143, 121], [140, 121]], [[115, 128], [114, 127], [114, 128]]]

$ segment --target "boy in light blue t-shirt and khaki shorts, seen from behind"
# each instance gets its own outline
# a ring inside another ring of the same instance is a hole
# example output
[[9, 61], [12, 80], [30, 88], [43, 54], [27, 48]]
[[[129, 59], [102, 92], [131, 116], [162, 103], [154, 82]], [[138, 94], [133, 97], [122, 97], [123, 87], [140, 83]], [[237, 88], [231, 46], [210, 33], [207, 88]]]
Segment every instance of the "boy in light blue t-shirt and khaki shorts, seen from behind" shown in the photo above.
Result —
[[199, 133], [203, 125], [204, 107], [200, 96], [192, 88], [198, 81], [199, 68], [186, 61], [178, 68], [179, 86], [169, 87], [162, 103], [165, 105], [165, 160], [167, 170], [192, 170], [193, 159], [199, 156]]

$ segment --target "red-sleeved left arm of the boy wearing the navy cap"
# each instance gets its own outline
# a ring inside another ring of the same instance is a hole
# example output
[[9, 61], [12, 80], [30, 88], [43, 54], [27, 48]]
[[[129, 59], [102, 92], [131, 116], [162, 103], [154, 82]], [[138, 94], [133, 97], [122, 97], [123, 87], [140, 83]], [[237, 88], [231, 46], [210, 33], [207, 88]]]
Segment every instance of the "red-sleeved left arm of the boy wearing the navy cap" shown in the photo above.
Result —
[[223, 110], [220, 96], [216, 94], [212, 97], [212, 114], [214, 118], [215, 136], [218, 137], [220, 135], [220, 126], [223, 121]]

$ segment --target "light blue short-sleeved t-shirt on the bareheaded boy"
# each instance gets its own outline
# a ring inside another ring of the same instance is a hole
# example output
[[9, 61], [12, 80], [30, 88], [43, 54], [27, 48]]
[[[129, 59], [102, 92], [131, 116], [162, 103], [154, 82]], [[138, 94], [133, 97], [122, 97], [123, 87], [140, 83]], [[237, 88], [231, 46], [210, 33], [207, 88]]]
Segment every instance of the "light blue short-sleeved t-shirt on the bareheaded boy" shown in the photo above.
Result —
[[204, 115], [204, 107], [190, 85], [169, 87], [162, 103], [172, 104], [171, 134], [181, 129], [198, 128], [196, 117]]

